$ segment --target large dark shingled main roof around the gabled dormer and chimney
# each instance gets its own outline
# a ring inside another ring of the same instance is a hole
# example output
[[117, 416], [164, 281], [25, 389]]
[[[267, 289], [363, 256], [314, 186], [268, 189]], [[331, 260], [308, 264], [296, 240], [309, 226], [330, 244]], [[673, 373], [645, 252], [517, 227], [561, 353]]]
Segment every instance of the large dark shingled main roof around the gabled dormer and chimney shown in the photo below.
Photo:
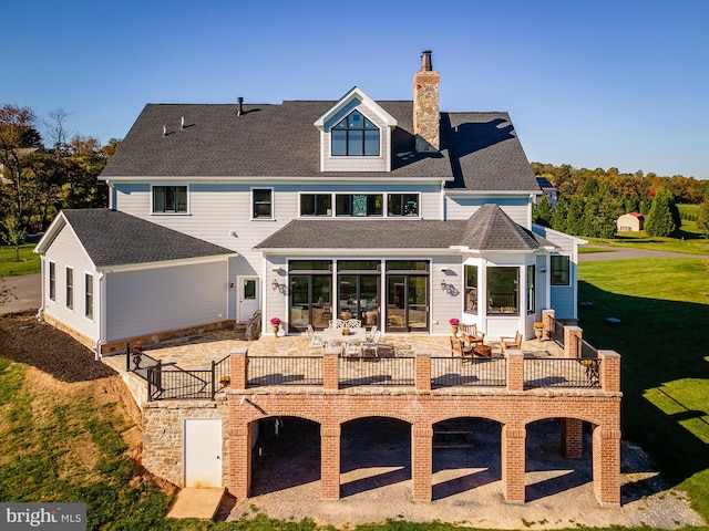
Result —
[[[342, 177], [320, 171], [312, 125], [333, 103], [244, 105], [242, 116], [236, 104], [148, 104], [102, 176]], [[440, 154], [414, 154], [412, 102], [377, 103], [399, 124], [393, 168], [358, 176], [450, 179], [449, 187], [470, 190], [538, 189], [506, 113], [441, 113]]]

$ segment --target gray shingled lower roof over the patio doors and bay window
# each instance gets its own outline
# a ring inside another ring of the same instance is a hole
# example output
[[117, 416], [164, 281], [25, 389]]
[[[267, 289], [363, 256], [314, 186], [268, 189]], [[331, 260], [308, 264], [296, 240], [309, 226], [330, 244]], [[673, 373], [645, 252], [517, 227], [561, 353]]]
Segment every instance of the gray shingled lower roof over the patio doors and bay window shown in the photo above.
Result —
[[298, 219], [261, 241], [256, 249], [449, 249], [533, 251], [554, 243], [486, 204], [469, 219]]

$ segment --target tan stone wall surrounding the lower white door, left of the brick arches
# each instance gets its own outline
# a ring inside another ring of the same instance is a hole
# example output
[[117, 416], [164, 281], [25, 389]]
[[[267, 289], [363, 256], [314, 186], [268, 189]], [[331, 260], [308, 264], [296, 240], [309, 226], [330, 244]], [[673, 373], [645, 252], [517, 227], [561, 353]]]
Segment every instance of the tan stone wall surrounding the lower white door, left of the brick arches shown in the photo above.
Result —
[[143, 466], [150, 472], [184, 487], [185, 418], [222, 418], [222, 483], [229, 469], [227, 403], [212, 400], [162, 400], [143, 404]]

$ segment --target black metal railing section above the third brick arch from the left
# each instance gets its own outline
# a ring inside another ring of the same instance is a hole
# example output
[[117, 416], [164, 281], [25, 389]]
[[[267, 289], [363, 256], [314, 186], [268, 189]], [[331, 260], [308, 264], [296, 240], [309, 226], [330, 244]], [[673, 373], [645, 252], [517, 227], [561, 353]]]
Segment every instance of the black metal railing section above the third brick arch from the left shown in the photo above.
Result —
[[506, 360], [431, 357], [431, 387], [505, 387]]

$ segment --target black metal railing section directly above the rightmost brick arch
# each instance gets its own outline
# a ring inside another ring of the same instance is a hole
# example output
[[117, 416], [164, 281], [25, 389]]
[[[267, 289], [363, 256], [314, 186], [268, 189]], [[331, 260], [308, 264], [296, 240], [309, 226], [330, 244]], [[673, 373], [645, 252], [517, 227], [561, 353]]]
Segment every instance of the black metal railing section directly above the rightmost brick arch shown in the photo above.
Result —
[[549, 357], [524, 361], [524, 388], [599, 388], [600, 360]]

